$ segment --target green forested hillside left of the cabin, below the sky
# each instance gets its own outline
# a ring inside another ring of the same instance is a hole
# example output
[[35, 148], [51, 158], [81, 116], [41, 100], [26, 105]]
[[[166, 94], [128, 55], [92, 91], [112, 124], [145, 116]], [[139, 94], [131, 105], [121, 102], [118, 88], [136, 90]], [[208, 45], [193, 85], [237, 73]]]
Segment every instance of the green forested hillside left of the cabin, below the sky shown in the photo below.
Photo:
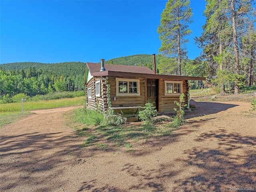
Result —
[[19, 62], [0, 65], [0, 103], [12, 102], [18, 94], [84, 90], [83, 62], [44, 64]]

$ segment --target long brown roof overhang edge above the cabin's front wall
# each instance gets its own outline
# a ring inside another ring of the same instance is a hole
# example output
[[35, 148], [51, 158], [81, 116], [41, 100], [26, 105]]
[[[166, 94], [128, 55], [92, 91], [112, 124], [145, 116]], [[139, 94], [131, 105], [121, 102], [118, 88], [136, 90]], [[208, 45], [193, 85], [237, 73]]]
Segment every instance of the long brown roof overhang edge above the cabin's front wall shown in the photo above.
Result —
[[151, 79], [168, 79], [168, 80], [206, 80], [205, 77], [193, 76], [175, 76], [175, 75], [159, 75], [159, 74], [144, 74], [144, 73], [129, 73], [116, 71], [102, 71], [92, 73], [92, 76], [122, 76], [122, 77], [141, 77]]

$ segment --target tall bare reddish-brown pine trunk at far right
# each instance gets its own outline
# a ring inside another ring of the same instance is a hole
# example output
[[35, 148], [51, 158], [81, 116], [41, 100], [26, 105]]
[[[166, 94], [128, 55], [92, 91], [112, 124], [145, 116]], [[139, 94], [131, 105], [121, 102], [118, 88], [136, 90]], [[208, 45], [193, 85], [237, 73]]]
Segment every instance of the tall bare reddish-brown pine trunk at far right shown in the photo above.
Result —
[[235, 3], [234, 0], [231, 0], [231, 8], [232, 8], [232, 28], [233, 28], [233, 40], [234, 40], [234, 52], [235, 52], [235, 74], [236, 82], [235, 82], [235, 94], [239, 94], [238, 87], [238, 75], [239, 75], [239, 60], [238, 60], [238, 41], [237, 41], [237, 33], [236, 33], [236, 12], [235, 12]]

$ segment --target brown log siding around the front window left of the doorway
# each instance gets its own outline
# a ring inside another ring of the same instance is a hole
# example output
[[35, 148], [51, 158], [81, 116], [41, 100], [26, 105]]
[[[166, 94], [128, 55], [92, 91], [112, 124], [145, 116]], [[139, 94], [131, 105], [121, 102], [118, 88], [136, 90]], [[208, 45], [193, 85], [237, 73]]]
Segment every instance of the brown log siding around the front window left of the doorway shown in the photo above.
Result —
[[[117, 77], [120, 78], [120, 77]], [[128, 77], [121, 77], [128, 78]], [[136, 78], [140, 79], [140, 96], [116, 96], [116, 77], [109, 77], [108, 84], [110, 84], [110, 98], [112, 107], [119, 106], [145, 106], [145, 81], [144, 78]], [[116, 101], [114, 101], [114, 96], [116, 97]]]

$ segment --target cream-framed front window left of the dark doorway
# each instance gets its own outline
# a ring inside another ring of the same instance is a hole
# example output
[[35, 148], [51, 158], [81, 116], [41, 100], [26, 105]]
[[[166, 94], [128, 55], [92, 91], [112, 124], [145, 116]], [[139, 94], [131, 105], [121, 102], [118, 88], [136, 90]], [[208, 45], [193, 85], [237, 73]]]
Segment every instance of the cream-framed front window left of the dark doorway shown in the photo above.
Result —
[[140, 80], [116, 78], [116, 95], [140, 96]]

